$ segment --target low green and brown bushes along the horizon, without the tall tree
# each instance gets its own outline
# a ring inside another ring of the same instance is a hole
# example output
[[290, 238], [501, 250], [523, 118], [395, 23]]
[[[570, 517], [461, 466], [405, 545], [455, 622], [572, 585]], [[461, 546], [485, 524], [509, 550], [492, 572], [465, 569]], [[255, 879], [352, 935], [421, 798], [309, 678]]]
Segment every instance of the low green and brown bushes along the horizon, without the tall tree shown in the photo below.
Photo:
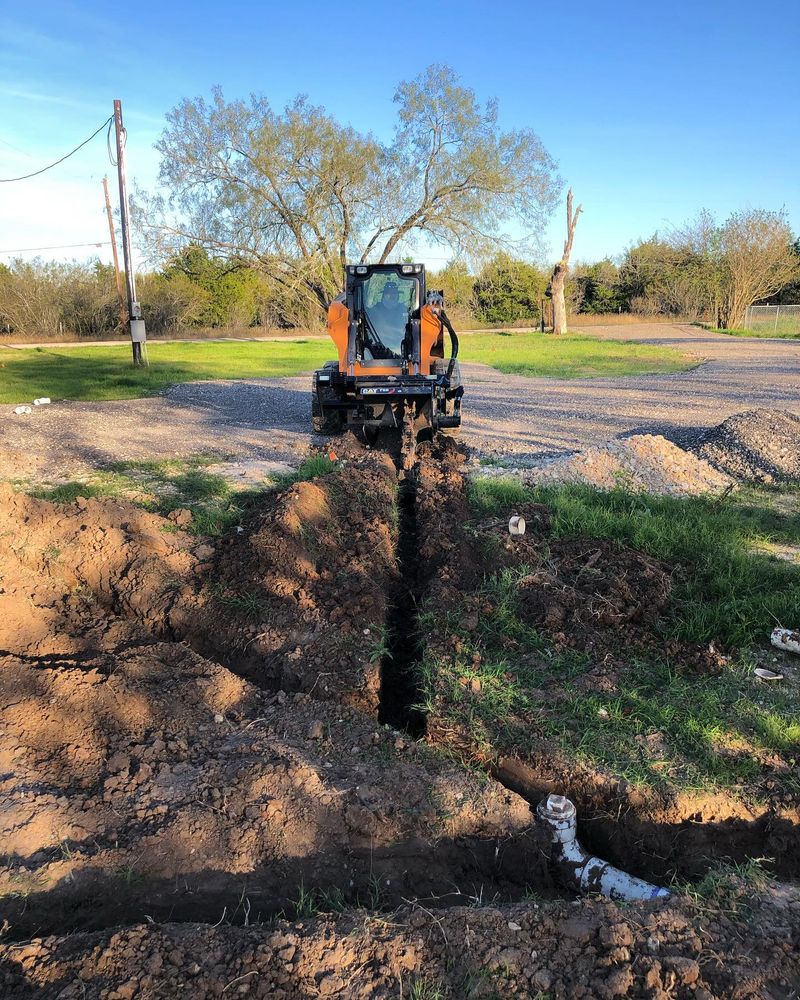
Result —
[[[550, 269], [499, 252], [479, 268], [455, 260], [428, 272], [462, 328], [549, 321]], [[318, 329], [324, 313], [251, 263], [188, 246], [140, 274], [138, 295], [154, 334], [198, 329]], [[618, 260], [572, 266], [571, 315], [637, 313], [735, 328], [754, 302], [800, 303], [800, 239], [782, 213], [751, 210], [716, 225], [708, 213]], [[102, 336], [118, 327], [113, 268], [13, 260], [0, 265], [0, 331]]]

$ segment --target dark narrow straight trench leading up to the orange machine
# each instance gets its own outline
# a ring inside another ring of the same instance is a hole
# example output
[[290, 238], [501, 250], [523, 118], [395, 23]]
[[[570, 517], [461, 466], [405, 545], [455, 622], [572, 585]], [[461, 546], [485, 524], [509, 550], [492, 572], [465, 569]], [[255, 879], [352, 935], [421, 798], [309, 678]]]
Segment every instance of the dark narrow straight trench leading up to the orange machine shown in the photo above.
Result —
[[397, 492], [399, 579], [386, 616], [386, 652], [381, 660], [378, 721], [405, 730], [414, 739], [425, 735], [425, 712], [418, 664], [424, 653], [418, 621], [421, 574], [418, 559], [416, 479], [401, 474]]

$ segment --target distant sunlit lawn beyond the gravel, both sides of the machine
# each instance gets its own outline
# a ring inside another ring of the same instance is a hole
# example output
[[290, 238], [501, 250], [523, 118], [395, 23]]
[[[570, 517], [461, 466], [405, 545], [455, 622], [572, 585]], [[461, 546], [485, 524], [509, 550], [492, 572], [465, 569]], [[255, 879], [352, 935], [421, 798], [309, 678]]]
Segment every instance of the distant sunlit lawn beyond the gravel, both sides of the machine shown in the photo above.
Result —
[[[134, 368], [126, 346], [3, 351], [0, 403], [51, 399], [134, 399], [176, 382], [298, 375], [335, 355], [328, 341], [159, 343], [150, 366]], [[669, 348], [569, 334], [480, 333], [462, 340], [461, 357], [519, 375], [587, 378], [674, 372], [694, 361]]]

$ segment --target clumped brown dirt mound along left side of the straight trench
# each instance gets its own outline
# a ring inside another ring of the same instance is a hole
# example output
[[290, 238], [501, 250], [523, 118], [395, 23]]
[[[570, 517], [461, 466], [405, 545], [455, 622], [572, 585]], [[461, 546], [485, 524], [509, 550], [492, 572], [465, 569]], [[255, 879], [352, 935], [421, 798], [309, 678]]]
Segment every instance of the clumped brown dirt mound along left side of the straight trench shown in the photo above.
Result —
[[261, 686], [377, 707], [387, 594], [397, 580], [396, 475], [362, 454], [269, 501], [223, 539], [172, 627]]

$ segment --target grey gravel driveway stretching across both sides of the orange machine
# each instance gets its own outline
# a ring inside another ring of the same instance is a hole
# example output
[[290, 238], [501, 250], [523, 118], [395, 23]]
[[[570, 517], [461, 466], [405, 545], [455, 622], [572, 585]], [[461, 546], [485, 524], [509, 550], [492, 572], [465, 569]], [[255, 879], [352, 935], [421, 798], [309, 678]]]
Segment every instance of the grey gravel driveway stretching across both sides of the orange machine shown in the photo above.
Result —
[[[463, 440], [522, 461], [630, 433], [678, 442], [697, 428], [756, 406], [800, 414], [800, 342], [713, 334], [692, 326], [592, 327], [597, 336], [643, 340], [698, 356], [674, 375], [550, 379], [464, 364]], [[706, 359], [703, 361], [702, 359]], [[309, 379], [176, 385], [164, 395], [105, 403], [56, 403], [0, 424], [0, 476], [79, 474], [86, 466], [213, 451], [296, 464], [309, 433]]]

